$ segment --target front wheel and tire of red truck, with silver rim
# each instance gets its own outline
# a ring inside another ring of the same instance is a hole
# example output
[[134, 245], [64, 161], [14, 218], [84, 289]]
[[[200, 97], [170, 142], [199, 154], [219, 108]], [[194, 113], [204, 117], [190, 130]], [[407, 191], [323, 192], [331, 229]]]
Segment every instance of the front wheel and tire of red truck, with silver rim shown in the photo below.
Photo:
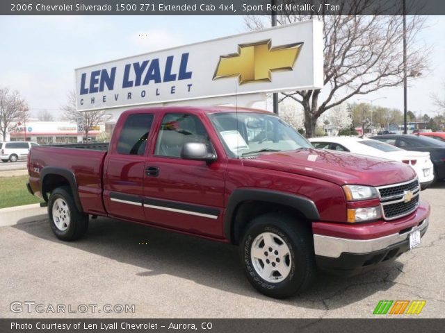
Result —
[[316, 266], [312, 233], [286, 214], [253, 219], [239, 250], [250, 284], [266, 296], [287, 298], [312, 283]]

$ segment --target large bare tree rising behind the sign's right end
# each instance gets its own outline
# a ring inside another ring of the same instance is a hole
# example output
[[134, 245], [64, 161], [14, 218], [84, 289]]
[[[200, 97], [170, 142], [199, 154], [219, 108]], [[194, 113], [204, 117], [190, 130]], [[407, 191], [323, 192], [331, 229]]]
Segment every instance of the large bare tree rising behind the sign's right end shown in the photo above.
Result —
[[[314, 135], [316, 121], [326, 110], [352, 96], [394, 87], [403, 82], [402, 17], [378, 15], [375, 11], [376, 15], [361, 15], [369, 12], [369, 6], [375, 5], [373, 2], [343, 0], [342, 15], [309, 16], [285, 12], [277, 16], [278, 24], [305, 19], [320, 19], [324, 24], [323, 96], [322, 89], [313, 89], [284, 93], [280, 99], [291, 98], [303, 106], [307, 137]], [[345, 8], [348, 8], [348, 12]], [[384, 10], [387, 8], [382, 8]], [[430, 50], [419, 44], [416, 38], [425, 27], [425, 22], [425, 17], [407, 17], [407, 78], [415, 78], [426, 70]], [[245, 25], [254, 30], [270, 24], [261, 17], [247, 16]]]

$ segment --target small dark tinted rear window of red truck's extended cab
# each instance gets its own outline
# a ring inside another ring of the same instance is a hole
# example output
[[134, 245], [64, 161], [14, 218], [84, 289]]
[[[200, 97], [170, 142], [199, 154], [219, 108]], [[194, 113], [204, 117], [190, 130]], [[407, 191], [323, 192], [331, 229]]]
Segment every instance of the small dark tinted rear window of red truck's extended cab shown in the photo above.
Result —
[[143, 155], [153, 123], [153, 114], [130, 114], [120, 131], [118, 153]]

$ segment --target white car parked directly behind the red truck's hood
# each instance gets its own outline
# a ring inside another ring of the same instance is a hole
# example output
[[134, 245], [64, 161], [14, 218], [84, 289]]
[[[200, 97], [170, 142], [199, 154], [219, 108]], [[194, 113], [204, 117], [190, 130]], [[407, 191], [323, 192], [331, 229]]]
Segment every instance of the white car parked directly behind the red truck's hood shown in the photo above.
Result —
[[309, 139], [309, 141], [315, 148], [382, 157], [408, 164], [416, 171], [421, 189], [426, 189], [434, 178], [433, 165], [428, 152], [405, 151], [384, 142], [373, 139], [359, 139], [358, 137], [316, 137]]

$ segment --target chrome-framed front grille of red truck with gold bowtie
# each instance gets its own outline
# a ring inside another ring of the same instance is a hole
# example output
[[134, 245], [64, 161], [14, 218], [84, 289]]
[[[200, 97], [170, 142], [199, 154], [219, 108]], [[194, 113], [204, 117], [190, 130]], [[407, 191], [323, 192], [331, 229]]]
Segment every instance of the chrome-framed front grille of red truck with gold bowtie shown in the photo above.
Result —
[[377, 188], [385, 220], [394, 220], [414, 212], [419, 206], [419, 180]]

